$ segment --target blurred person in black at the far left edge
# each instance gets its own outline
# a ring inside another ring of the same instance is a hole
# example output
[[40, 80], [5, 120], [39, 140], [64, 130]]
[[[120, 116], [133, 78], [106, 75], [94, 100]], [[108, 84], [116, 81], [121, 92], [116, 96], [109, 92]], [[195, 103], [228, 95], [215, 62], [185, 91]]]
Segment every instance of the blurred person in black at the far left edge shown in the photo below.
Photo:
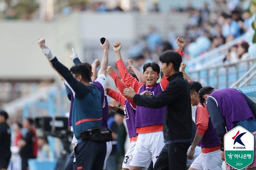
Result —
[[0, 111], [0, 170], [7, 170], [11, 158], [11, 130], [7, 124], [8, 114]]

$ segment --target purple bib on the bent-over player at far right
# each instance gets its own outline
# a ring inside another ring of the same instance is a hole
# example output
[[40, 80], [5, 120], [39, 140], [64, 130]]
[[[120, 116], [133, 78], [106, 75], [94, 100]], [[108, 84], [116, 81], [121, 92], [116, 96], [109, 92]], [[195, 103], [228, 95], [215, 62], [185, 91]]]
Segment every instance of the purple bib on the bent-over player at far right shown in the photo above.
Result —
[[234, 127], [233, 122], [235, 121], [247, 120], [249, 118], [256, 121], [245, 100], [244, 94], [237, 89], [224, 88], [215, 90], [209, 97], [216, 101], [228, 131]]

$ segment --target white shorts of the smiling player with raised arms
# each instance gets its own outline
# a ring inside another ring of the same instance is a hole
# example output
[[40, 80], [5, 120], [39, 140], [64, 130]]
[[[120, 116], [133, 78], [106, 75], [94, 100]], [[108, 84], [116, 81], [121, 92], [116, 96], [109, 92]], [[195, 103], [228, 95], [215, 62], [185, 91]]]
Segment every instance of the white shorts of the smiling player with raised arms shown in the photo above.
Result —
[[148, 168], [151, 160], [154, 166], [164, 146], [163, 131], [139, 134], [130, 166]]

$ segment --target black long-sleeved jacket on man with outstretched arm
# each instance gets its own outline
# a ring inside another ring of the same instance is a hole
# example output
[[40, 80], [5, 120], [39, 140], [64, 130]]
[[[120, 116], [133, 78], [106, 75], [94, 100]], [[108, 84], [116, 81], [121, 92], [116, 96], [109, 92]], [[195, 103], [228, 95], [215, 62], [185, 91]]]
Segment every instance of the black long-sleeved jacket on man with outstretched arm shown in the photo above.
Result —
[[136, 94], [133, 102], [138, 106], [149, 108], [167, 106], [163, 123], [165, 140], [190, 139], [192, 116], [189, 83], [181, 72], [173, 74], [167, 80], [170, 84], [165, 91], [154, 96]]

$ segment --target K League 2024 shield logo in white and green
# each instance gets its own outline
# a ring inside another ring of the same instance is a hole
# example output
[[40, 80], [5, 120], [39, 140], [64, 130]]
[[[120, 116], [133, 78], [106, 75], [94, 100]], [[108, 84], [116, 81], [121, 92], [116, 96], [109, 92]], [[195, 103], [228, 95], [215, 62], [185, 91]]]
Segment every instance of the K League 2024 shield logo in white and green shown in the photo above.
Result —
[[237, 126], [224, 135], [224, 154], [228, 165], [238, 170], [249, 166], [254, 156], [254, 135]]

